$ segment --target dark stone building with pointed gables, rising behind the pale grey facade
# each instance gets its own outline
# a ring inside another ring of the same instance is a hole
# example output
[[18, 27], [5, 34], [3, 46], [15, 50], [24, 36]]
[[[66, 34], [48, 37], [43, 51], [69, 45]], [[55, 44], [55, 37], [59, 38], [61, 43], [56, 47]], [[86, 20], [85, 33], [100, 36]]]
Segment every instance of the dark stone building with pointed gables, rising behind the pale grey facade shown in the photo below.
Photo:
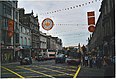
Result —
[[31, 13], [26, 13], [24, 8], [19, 8], [19, 21], [21, 24], [28, 26], [31, 30], [31, 56], [35, 57], [35, 55], [40, 51], [40, 37], [39, 37], [39, 23], [38, 23], [38, 16], [34, 17], [33, 10]]

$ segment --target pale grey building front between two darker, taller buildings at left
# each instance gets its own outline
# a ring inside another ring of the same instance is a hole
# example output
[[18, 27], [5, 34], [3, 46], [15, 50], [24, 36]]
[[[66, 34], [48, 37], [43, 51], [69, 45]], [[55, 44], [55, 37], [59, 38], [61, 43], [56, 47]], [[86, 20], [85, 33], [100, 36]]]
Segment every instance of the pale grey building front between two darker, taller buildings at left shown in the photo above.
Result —
[[31, 30], [28, 26], [19, 24], [20, 34], [19, 34], [19, 57], [25, 57], [27, 55], [31, 56]]

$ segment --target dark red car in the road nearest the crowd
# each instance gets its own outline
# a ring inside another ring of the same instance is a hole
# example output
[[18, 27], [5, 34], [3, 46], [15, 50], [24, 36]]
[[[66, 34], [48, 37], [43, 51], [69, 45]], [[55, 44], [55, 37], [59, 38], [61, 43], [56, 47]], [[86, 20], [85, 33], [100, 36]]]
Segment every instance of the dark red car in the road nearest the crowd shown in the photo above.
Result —
[[81, 59], [67, 57], [66, 58], [66, 63], [69, 64], [69, 65], [79, 65], [81, 63]]

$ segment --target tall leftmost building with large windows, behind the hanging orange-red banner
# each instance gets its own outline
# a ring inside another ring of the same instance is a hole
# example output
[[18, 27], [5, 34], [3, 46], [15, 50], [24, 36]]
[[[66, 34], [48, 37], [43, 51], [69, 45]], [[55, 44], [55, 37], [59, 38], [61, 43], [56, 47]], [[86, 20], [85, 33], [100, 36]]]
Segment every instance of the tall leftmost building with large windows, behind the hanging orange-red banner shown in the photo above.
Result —
[[[19, 19], [17, 0], [0, 1], [0, 27], [1, 27], [1, 61], [12, 62], [18, 57], [16, 48], [19, 45]], [[8, 21], [13, 21], [13, 36], [8, 36]]]

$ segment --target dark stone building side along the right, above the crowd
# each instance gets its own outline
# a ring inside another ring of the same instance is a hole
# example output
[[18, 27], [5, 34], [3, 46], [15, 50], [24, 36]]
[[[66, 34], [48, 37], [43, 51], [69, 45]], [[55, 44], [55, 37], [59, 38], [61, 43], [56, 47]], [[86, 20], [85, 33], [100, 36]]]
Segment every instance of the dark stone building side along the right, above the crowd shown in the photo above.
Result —
[[115, 1], [103, 0], [100, 12], [88, 48], [99, 50], [98, 55], [112, 57], [115, 54]]

